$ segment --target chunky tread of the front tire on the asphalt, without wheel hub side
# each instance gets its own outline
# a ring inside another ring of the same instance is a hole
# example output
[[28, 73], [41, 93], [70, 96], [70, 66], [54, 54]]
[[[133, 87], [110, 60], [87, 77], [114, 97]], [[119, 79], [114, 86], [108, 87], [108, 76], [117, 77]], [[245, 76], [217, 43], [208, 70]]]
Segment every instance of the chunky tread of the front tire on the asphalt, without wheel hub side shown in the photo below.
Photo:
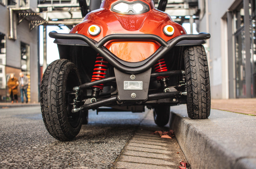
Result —
[[[45, 70], [40, 93], [40, 103], [43, 121], [46, 130], [52, 137], [60, 141], [68, 141], [76, 137], [81, 125], [76, 130], [71, 131], [68, 125], [64, 109], [64, 74], [73, 64], [68, 60], [60, 59], [53, 61]], [[74, 64], [73, 64], [74, 65]], [[49, 91], [50, 89], [50, 91]]]

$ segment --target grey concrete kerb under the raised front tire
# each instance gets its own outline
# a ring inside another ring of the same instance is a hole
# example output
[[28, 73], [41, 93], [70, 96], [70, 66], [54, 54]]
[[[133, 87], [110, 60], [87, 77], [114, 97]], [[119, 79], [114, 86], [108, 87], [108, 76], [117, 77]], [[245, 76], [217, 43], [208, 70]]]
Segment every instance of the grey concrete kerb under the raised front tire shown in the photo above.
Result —
[[256, 168], [256, 117], [211, 110], [192, 120], [186, 105], [173, 106], [170, 127], [191, 168]]

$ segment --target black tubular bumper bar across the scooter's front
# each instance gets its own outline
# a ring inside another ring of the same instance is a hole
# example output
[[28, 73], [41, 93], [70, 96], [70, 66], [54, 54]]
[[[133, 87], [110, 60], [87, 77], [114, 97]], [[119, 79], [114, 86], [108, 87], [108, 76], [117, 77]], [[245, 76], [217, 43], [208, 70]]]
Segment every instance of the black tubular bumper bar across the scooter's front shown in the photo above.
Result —
[[[180, 35], [176, 38], [173, 38], [167, 42], [164, 41], [164, 39], [160, 38], [159, 36], [152, 35], [152, 34], [112, 34], [104, 37], [99, 42], [88, 38], [87, 36], [84, 36], [82, 34], [75, 34], [75, 33], [57, 33], [56, 31], [52, 31], [49, 33], [49, 36], [51, 38], [55, 39], [78, 39], [83, 40], [86, 42], [89, 46], [92, 47], [93, 50], [95, 50], [97, 53], [99, 53], [102, 57], [104, 57], [111, 65], [116, 67], [118, 70], [125, 72], [125, 73], [131, 73], [136, 74], [140, 72], [144, 72], [148, 70], [150, 67], [152, 67], [159, 59], [163, 57], [165, 53], [167, 53], [169, 50], [171, 50], [177, 43], [179, 43], [182, 40], [205, 40], [210, 39], [211, 35], [209, 33], [199, 33], [197, 35], [192, 34], [186, 34], [186, 35]], [[118, 61], [118, 58], [116, 55], [111, 53], [105, 46], [103, 46], [106, 42], [109, 40], [118, 40], [118, 39], [124, 39], [124, 40], [153, 40], [158, 42], [161, 46], [158, 50], [156, 50], [155, 53], [153, 53], [147, 61], [141, 61], [135, 62], [132, 67], [127, 66], [131, 65], [130, 62], [127, 62], [125, 64], [125, 61], [120, 63]]]

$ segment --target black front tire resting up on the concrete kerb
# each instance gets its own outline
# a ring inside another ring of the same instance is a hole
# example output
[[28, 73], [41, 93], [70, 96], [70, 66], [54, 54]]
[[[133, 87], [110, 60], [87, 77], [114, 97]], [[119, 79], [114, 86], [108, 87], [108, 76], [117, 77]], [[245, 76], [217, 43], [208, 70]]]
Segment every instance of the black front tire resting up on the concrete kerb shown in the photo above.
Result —
[[187, 83], [187, 111], [192, 119], [210, 116], [211, 90], [204, 46], [188, 46], [184, 50]]

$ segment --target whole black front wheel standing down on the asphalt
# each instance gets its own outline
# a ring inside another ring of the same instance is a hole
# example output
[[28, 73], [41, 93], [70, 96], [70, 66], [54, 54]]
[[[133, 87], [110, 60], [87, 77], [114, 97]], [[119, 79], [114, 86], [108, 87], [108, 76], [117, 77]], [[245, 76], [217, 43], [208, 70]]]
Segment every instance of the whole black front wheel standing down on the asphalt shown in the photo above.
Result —
[[82, 112], [72, 113], [68, 92], [80, 85], [74, 63], [53, 61], [44, 71], [41, 83], [41, 111], [44, 125], [52, 137], [60, 141], [72, 140], [82, 125]]

